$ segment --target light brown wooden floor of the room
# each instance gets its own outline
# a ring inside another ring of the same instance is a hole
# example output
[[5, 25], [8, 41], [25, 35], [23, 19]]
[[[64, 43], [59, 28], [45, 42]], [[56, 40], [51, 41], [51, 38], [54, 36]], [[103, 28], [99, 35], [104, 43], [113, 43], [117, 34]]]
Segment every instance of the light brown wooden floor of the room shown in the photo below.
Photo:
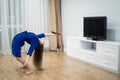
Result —
[[[26, 57], [26, 54], [23, 54]], [[0, 55], [0, 80], [120, 80], [120, 75], [70, 58], [63, 52], [44, 52], [43, 70], [24, 75], [22, 65], [12, 55]]]

